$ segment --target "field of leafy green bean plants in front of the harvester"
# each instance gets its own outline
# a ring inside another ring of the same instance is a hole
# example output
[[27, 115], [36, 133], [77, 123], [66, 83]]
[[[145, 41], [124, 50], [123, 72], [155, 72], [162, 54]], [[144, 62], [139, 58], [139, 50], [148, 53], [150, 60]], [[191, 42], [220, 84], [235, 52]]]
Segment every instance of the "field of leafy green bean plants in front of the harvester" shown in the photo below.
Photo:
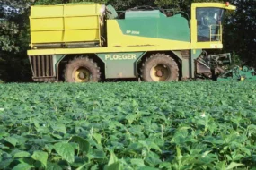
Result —
[[256, 82], [0, 85], [0, 169], [255, 169]]

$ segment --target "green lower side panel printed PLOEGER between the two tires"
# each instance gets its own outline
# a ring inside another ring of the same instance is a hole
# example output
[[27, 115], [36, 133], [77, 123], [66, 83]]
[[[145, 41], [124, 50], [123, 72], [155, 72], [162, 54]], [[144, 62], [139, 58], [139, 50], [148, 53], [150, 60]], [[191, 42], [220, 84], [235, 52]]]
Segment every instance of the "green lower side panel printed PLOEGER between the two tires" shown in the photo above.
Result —
[[107, 79], [137, 78], [137, 61], [144, 52], [96, 54], [105, 64]]

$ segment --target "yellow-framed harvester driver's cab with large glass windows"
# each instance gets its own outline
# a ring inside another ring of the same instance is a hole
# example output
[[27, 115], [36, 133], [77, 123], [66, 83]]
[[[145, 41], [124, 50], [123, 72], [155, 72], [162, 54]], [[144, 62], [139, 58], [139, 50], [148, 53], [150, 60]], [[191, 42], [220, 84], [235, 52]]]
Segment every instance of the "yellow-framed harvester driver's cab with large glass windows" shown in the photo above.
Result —
[[226, 10], [234, 5], [194, 3], [191, 5], [191, 42], [195, 48], [222, 48], [223, 23]]

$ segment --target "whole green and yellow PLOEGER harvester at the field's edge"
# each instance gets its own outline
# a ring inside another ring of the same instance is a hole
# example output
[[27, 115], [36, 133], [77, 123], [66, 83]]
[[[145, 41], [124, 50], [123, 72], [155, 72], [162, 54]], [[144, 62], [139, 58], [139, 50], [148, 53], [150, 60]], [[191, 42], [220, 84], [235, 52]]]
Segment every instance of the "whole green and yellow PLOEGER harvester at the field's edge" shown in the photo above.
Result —
[[117, 79], [255, 79], [253, 69], [225, 71], [231, 55], [209, 55], [223, 48], [229, 3], [191, 4], [182, 13], [140, 6], [117, 13], [110, 4], [31, 6], [34, 81], [97, 82]]

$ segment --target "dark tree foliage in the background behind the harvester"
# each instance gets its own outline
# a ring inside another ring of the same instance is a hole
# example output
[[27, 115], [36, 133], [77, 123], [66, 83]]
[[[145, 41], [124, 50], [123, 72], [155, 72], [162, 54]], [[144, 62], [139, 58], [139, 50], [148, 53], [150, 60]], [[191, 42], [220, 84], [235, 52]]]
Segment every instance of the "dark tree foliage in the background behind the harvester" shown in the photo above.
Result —
[[[0, 1], [0, 80], [31, 81], [26, 55], [29, 49], [29, 13], [31, 4], [62, 4], [84, 0], [4, 0]], [[93, 1], [93, 0], [87, 0]], [[222, 2], [219, 0], [94, 0], [125, 10], [137, 5], [152, 5], [182, 10], [190, 14], [193, 2]], [[256, 66], [256, 1], [231, 0], [238, 8], [226, 18], [223, 52], [231, 52], [234, 61]]]

